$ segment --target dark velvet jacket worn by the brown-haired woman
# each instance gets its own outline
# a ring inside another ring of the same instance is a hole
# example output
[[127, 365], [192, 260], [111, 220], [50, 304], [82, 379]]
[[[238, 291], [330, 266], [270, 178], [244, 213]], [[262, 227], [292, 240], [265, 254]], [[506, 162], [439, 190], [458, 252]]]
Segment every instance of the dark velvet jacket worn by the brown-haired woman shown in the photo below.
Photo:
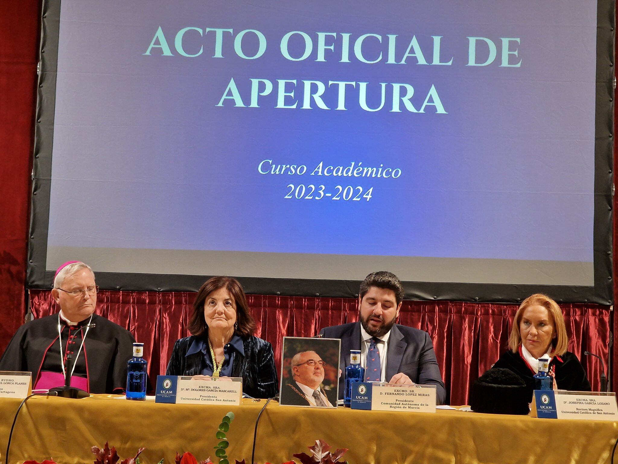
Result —
[[[187, 354], [195, 337], [176, 340], [172, 357], [167, 364], [168, 376], [198, 376], [206, 366], [201, 351]], [[235, 353], [232, 377], [242, 377], [242, 391], [253, 398], [272, 398], [277, 394], [277, 371], [274, 367], [273, 347], [258, 337], [242, 341], [245, 356]]]

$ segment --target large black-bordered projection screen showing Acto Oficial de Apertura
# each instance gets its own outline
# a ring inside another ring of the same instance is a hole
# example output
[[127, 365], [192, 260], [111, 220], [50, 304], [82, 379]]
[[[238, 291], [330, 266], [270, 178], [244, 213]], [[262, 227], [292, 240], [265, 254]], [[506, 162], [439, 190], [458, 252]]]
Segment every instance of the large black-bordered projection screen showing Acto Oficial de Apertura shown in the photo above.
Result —
[[45, 2], [28, 285], [611, 303], [610, 1]]

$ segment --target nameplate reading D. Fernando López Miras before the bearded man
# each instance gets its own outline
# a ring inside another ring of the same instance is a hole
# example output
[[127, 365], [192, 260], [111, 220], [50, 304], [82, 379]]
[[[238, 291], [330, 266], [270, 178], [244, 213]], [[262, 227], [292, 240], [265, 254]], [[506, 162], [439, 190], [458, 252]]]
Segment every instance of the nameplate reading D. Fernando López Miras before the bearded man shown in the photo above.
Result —
[[372, 411], [435, 413], [436, 385], [353, 382], [350, 407]]

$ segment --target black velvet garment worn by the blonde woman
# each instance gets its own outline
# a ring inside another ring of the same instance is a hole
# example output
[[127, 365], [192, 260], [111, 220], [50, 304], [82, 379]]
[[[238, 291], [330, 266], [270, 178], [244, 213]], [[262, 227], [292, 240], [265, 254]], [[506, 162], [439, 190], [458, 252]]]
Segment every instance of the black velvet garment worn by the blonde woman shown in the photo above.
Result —
[[[502, 367], [515, 372], [526, 383], [526, 387], [532, 401], [532, 392], [535, 389], [535, 372], [528, 366], [523, 356], [517, 351], [506, 351], [502, 353], [500, 359], [492, 367]], [[554, 356], [549, 363], [549, 371], [554, 370], [556, 385], [560, 390], [571, 390], [575, 392], [590, 392], [590, 382], [586, 377], [582, 364], [575, 354], [567, 351], [560, 356]]]

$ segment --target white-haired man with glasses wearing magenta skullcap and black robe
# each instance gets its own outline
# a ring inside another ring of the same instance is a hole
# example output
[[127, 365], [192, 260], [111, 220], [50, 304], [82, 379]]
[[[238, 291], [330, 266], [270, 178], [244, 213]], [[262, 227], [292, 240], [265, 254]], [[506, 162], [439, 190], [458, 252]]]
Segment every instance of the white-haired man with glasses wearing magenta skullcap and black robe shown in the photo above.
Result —
[[35, 390], [71, 385], [89, 393], [122, 393], [135, 339], [94, 314], [97, 291], [90, 266], [62, 264], [51, 291], [60, 311], [17, 329], [0, 359], [0, 371], [32, 372]]

